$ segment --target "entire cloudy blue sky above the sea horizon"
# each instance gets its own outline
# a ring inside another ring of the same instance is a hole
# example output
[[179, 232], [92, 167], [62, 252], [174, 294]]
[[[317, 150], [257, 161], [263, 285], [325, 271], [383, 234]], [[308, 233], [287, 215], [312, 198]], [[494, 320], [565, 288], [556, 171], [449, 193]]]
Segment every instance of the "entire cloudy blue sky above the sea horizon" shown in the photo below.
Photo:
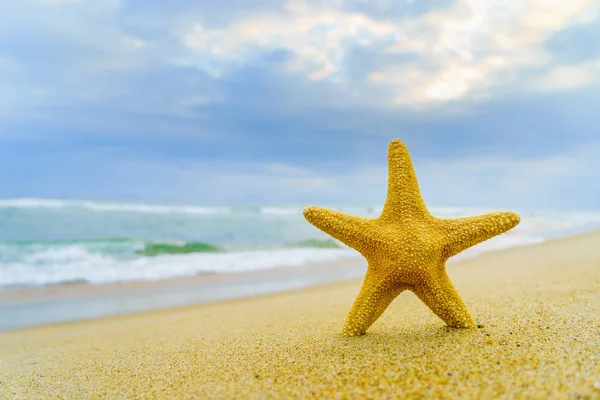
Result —
[[0, 5], [0, 197], [600, 210], [600, 2]]

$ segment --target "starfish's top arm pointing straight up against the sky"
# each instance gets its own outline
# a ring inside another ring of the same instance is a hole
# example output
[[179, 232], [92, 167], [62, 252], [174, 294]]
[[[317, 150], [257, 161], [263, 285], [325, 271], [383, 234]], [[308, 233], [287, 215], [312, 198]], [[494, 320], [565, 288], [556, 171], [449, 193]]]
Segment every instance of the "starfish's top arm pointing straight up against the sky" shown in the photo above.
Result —
[[408, 149], [398, 139], [388, 147], [388, 193], [381, 212], [383, 219], [428, 214]]

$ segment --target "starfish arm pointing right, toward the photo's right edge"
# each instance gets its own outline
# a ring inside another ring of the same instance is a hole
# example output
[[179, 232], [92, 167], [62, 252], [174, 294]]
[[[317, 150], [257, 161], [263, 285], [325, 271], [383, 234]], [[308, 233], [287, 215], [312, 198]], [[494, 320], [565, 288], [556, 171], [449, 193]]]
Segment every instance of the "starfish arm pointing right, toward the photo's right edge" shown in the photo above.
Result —
[[500, 235], [520, 222], [514, 212], [495, 212], [475, 217], [440, 219], [446, 237], [444, 255], [446, 258], [457, 255], [469, 247]]

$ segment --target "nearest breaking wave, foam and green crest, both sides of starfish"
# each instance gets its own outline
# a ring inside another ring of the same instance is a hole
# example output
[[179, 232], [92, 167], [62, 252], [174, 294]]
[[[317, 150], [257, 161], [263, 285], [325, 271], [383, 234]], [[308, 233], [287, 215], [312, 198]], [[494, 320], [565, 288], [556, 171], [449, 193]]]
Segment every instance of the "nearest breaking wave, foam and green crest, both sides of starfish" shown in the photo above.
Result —
[[[541, 238], [503, 235], [494, 241], [487, 241], [468, 249], [453, 260], [541, 241]], [[110, 239], [106, 243], [110, 243]], [[333, 245], [338, 244], [330, 239], [301, 241], [287, 248], [209, 252], [205, 250], [211, 245], [198, 242], [187, 246], [185, 243], [154, 242], [154, 245], [145, 243], [142, 247], [133, 239], [114, 243], [126, 243], [131, 246], [121, 247], [121, 250], [126, 251], [120, 253], [114, 248], [102, 247], [99, 245], [102, 242], [97, 240], [54, 244], [45, 248], [34, 246], [35, 251], [22, 254], [18, 261], [0, 262], [0, 286], [151, 281], [198, 274], [292, 268], [315, 262], [360, 257], [353, 249], [334, 248]], [[135, 246], [138, 246], [137, 252], [141, 254], [132, 251]]]

